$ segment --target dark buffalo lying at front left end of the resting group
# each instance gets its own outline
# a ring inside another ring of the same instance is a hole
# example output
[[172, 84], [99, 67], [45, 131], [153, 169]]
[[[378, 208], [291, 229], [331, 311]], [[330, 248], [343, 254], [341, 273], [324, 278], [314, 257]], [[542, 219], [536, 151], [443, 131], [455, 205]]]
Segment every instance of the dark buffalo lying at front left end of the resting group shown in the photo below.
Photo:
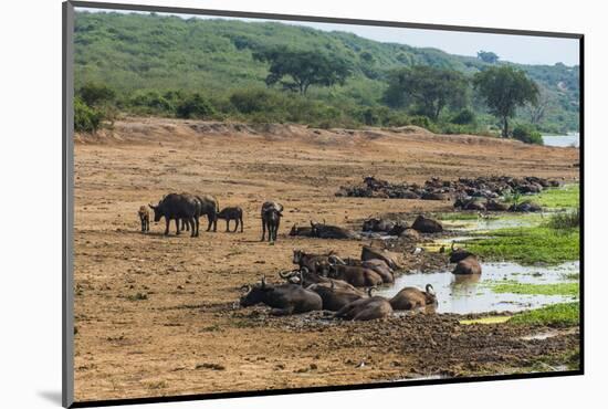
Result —
[[301, 314], [323, 308], [321, 296], [297, 284], [268, 284], [262, 277], [260, 284], [242, 287], [247, 293], [241, 297], [241, 306], [266, 304], [273, 315]]

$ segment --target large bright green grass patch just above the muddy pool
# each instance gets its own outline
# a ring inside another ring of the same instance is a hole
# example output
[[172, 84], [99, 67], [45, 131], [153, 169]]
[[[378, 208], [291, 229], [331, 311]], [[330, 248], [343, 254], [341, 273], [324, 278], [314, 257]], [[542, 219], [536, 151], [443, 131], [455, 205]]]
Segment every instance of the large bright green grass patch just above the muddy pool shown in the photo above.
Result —
[[486, 260], [510, 260], [521, 264], [559, 264], [579, 259], [578, 228], [510, 228], [495, 230], [492, 235], [470, 241], [467, 249]]

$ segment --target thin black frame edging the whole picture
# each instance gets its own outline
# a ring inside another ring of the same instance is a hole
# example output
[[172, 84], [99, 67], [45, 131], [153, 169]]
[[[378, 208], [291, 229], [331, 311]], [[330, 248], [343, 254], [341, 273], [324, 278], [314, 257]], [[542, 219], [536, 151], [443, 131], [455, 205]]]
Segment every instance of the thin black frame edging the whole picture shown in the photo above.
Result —
[[[104, 407], [118, 405], [137, 405], [153, 402], [177, 402], [189, 400], [203, 399], [226, 399], [254, 396], [274, 396], [274, 395], [294, 395], [294, 394], [311, 394], [325, 391], [343, 391], [356, 389], [377, 389], [377, 388], [398, 388], [422, 385], [445, 385], [445, 384], [469, 384], [480, 381], [496, 381], [496, 380], [514, 380], [514, 379], [533, 379], [533, 378], [552, 378], [565, 376], [579, 376], [585, 374], [585, 35], [580, 33], [566, 32], [547, 32], [533, 30], [511, 30], [511, 29], [494, 29], [482, 27], [465, 27], [465, 25], [444, 25], [444, 24], [427, 24], [415, 22], [397, 22], [382, 20], [361, 20], [361, 19], [343, 19], [316, 15], [294, 15], [294, 14], [275, 14], [261, 12], [243, 12], [229, 10], [208, 10], [196, 8], [176, 8], [176, 7], [159, 7], [144, 4], [123, 4], [109, 2], [87, 2], [87, 1], [65, 1], [62, 4], [63, 17], [63, 70], [62, 70], [62, 135], [63, 135], [63, 157], [62, 157], [62, 217], [63, 217], [63, 234], [62, 234], [62, 405], [65, 408], [85, 408], [85, 407]], [[106, 10], [123, 10], [123, 11], [144, 11], [144, 12], [166, 12], [166, 13], [185, 13], [185, 14], [202, 14], [217, 17], [248, 18], [248, 19], [276, 19], [285, 21], [310, 21], [319, 23], [342, 23], [356, 25], [374, 25], [374, 27], [390, 27], [405, 29], [426, 29], [441, 31], [458, 31], [473, 33], [492, 33], [492, 34], [513, 34], [544, 38], [560, 38], [575, 39], [579, 41], [579, 67], [580, 67], [580, 101], [579, 101], [579, 186], [580, 186], [580, 365], [577, 370], [564, 370], [557, 373], [533, 373], [533, 374], [514, 374], [514, 375], [491, 375], [467, 378], [447, 378], [447, 379], [426, 379], [426, 380], [407, 380], [407, 381], [386, 381], [375, 384], [360, 384], [347, 386], [326, 386], [326, 387], [306, 387], [297, 389], [272, 389], [272, 390], [250, 390], [237, 392], [217, 392], [217, 394], [197, 394], [181, 395], [167, 397], [149, 397], [149, 398], [133, 398], [133, 399], [112, 399], [112, 400], [95, 400], [95, 401], [74, 401], [74, 333], [73, 333], [73, 229], [74, 229], [74, 129], [73, 129], [73, 101], [74, 101], [74, 82], [73, 82], [73, 31], [74, 31], [74, 8], [94, 8]]]

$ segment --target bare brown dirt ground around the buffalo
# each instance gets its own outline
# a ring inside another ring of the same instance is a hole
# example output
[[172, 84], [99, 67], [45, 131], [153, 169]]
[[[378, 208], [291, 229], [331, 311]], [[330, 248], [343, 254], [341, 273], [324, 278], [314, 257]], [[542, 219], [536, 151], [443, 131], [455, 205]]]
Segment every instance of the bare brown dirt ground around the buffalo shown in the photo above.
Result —
[[[578, 178], [578, 150], [422, 129], [313, 130], [302, 126], [133, 118], [75, 145], [75, 398], [345, 385], [421, 376], [530, 370], [578, 345], [576, 331], [460, 325], [409, 314], [381, 322], [322, 313], [272, 317], [238, 308], [239, 287], [292, 268], [292, 250], [357, 256], [369, 241], [290, 238], [310, 220], [358, 227], [386, 212], [450, 210], [450, 202], [336, 198], [374, 175], [422, 182], [490, 175]], [[137, 209], [168, 192], [210, 193], [243, 208], [244, 233], [139, 232]], [[284, 204], [279, 240], [260, 242], [260, 207]], [[401, 258], [411, 265], [417, 261]]]

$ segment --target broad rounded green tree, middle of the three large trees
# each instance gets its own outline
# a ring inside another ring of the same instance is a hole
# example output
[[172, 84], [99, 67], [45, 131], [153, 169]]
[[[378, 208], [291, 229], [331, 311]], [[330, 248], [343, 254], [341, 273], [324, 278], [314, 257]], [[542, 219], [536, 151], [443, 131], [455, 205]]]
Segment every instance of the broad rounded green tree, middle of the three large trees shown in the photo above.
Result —
[[416, 104], [418, 113], [437, 120], [441, 111], [467, 103], [468, 81], [454, 70], [416, 65], [389, 74], [385, 102], [392, 107]]

